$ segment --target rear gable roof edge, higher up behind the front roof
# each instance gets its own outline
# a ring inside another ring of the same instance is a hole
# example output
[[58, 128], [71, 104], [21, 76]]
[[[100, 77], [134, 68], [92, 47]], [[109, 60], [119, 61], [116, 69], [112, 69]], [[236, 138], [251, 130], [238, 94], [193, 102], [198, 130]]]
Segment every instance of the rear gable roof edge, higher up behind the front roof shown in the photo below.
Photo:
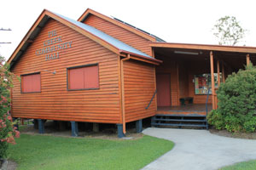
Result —
[[[80, 17], [79, 17], [79, 22], [84, 22], [84, 20], [86, 20], [86, 18], [90, 15], [90, 14], [93, 14], [93, 15], [96, 15], [97, 17], [103, 19], [103, 20], [108, 20], [108, 22], [111, 22], [113, 23], [114, 25], [116, 26], [120, 26], [122, 28], [124, 28], [125, 30], [128, 30], [128, 31], [131, 31], [135, 34], [137, 34], [138, 36], [140, 37], [144, 37], [145, 39], [148, 39], [149, 41], [151, 42], [157, 42], [158, 40], [162, 40], [160, 39], [159, 37], [155, 37], [154, 35], [146, 32], [146, 31], [143, 31], [141, 29], [137, 29], [137, 27], [135, 26], [131, 26], [127, 23], [125, 23], [124, 21], [122, 20], [118, 20], [118, 19], [115, 19], [115, 18], [110, 18], [104, 14], [100, 14], [90, 8], [87, 8], [85, 11], [84, 11], [84, 14], [82, 14]], [[163, 41], [163, 40], [162, 40]]]

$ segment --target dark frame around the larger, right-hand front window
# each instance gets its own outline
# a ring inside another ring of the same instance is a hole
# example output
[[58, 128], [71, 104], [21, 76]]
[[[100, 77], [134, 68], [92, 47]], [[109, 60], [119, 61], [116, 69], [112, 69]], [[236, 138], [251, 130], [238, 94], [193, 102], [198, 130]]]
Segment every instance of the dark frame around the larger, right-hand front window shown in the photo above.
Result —
[[[78, 68], [83, 68], [83, 67], [90, 67], [90, 66], [97, 66], [97, 67], [98, 67], [98, 83], [99, 83], [99, 88], [78, 88], [78, 89], [70, 89], [70, 88], [69, 88], [69, 70], [78, 69]], [[100, 89], [100, 71], [99, 71], [99, 70], [100, 70], [100, 69], [99, 69], [99, 63], [89, 64], [89, 65], [78, 65], [78, 66], [67, 67], [67, 91], [97, 90], [97, 89]]]

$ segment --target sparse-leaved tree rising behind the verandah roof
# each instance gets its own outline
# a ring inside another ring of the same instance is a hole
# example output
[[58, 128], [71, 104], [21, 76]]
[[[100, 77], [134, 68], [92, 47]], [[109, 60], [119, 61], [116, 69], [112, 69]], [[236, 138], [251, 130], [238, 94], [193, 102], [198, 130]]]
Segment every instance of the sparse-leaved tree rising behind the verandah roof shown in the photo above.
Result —
[[235, 46], [245, 37], [246, 30], [240, 26], [235, 16], [224, 16], [217, 20], [212, 28], [213, 35], [218, 38], [219, 45]]

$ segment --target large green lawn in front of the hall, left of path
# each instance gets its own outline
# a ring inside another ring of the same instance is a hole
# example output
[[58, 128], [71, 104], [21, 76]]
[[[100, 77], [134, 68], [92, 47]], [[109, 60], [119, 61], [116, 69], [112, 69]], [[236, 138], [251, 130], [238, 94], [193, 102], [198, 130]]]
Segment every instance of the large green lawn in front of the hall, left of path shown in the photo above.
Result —
[[16, 142], [10, 145], [9, 158], [19, 164], [19, 170], [140, 169], [174, 145], [150, 136], [108, 140], [21, 134]]

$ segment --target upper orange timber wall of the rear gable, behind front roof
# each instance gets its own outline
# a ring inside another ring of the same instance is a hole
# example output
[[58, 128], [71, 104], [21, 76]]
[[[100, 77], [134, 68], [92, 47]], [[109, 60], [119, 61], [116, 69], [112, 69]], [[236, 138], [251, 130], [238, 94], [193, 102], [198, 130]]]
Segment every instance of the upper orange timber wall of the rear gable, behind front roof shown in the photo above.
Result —
[[151, 50], [148, 45], [148, 40], [134, 34], [131, 31], [127, 31], [120, 26], [116, 26], [107, 20], [103, 20], [95, 15], [90, 14], [84, 21], [84, 24], [93, 26], [96, 29], [105, 32], [109, 36], [119, 39], [121, 42], [125, 42], [133, 48], [137, 48], [145, 54], [151, 55]]

